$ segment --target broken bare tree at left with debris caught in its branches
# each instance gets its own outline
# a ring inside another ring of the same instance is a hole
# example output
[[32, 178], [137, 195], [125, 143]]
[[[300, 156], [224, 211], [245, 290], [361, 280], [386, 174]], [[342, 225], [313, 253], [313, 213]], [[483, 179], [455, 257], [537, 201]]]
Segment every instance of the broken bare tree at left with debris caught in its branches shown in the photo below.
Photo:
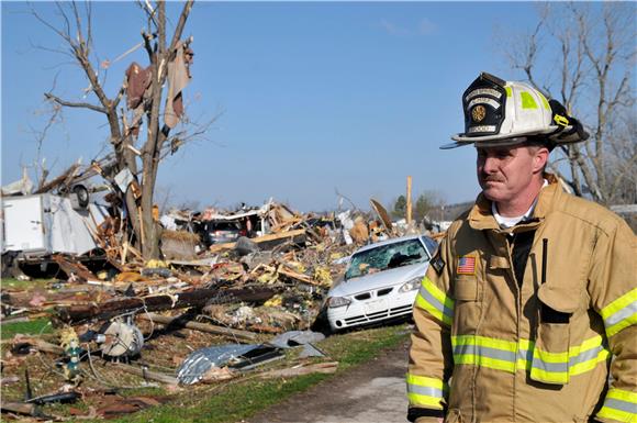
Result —
[[[128, 211], [136, 244], [142, 247], [145, 258], [157, 257], [159, 254], [159, 235], [152, 214], [159, 163], [188, 137], [185, 134], [170, 135], [170, 130], [176, 125], [176, 121], [179, 121], [182, 112], [182, 109], [178, 110], [174, 105], [180, 98], [180, 89], [175, 88], [174, 74], [170, 74], [170, 69], [175, 69], [177, 63], [185, 64], [188, 78], [190, 77], [188, 69], [189, 59], [192, 57], [192, 51], [188, 47], [190, 40], [182, 41], [181, 36], [192, 4], [193, 0], [183, 3], [175, 30], [168, 40], [166, 2], [138, 3], [147, 22], [146, 30], [142, 32], [141, 45], [147, 53], [149, 66], [145, 69], [130, 68], [127, 77], [113, 97], [109, 97], [104, 90], [104, 66], [100, 68], [93, 52], [91, 3], [56, 3], [59, 15], [57, 23], [45, 20], [34, 7], [31, 7], [35, 18], [65, 42], [69, 49], [60, 53], [71, 57], [89, 82], [86, 101], [69, 101], [53, 92], [46, 92], [45, 98], [60, 107], [90, 110], [104, 116], [110, 131], [109, 144], [112, 153], [109, 157], [112, 160], [96, 163], [94, 167], [105, 179], [113, 182], [113, 186], [116, 186], [114, 181], [116, 175], [127, 171], [132, 176], [132, 183], [124, 186], [121, 194]], [[135, 84], [142, 84], [143, 92], [139, 93], [136, 104], [133, 104], [132, 77], [141, 73], [145, 75], [145, 79], [137, 79]], [[163, 89], [166, 82], [168, 88]], [[121, 104], [125, 94], [127, 101]], [[161, 111], [163, 97], [167, 99], [164, 111]], [[144, 135], [142, 126], [145, 126]], [[143, 143], [139, 142], [141, 145], [137, 145], [138, 137], [145, 138]]]

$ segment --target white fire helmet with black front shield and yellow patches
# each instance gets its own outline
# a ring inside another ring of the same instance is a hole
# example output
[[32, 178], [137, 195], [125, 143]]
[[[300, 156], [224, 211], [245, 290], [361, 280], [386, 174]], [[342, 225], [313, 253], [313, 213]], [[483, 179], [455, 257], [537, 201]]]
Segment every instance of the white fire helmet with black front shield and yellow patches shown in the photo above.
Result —
[[465, 132], [451, 136], [455, 143], [443, 149], [474, 144], [477, 147], [544, 142], [578, 143], [589, 137], [583, 126], [569, 116], [563, 105], [547, 100], [525, 82], [504, 81], [482, 73], [462, 94]]

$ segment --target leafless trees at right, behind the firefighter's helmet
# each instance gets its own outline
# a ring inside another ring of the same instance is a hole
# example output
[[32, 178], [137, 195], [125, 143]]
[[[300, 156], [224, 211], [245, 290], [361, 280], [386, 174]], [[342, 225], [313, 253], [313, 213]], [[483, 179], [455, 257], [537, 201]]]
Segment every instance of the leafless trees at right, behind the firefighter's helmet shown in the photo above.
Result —
[[538, 10], [533, 32], [504, 46], [505, 54], [591, 134], [582, 144], [560, 146], [551, 170], [577, 196], [636, 202], [635, 3], [546, 3]]

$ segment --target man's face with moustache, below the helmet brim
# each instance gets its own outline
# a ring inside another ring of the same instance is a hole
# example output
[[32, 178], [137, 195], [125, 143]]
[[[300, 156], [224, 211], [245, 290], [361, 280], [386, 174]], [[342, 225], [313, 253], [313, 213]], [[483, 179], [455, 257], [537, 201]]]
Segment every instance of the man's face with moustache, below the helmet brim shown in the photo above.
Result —
[[[532, 190], [548, 151], [533, 146], [478, 147], [478, 181], [484, 196], [496, 203], [510, 202]], [[544, 151], [545, 153], [540, 152]]]

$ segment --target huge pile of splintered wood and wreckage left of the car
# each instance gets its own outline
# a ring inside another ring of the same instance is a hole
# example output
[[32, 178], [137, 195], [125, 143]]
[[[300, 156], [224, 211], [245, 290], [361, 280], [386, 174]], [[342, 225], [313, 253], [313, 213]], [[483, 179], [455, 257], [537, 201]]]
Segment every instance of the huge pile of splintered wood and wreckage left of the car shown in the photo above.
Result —
[[[2, 285], [0, 323], [41, 325], [3, 336], [8, 415], [111, 418], [169, 399], [120, 396], [127, 388], [334, 372], [329, 357], [312, 358], [323, 356], [313, 331], [326, 330], [316, 320], [325, 293], [358, 246], [401, 232], [387, 213], [301, 214], [271, 199], [231, 212], [156, 210], [161, 258], [145, 260], [121, 199], [76, 188], [83, 175], [74, 166], [40, 193], [16, 194], [26, 181], [2, 191], [14, 193], [2, 198], [3, 277], [48, 276]], [[29, 232], [20, 222], [33, 208], [45, 219]], [[77, 401], [65, 415], [46, 408]]]

